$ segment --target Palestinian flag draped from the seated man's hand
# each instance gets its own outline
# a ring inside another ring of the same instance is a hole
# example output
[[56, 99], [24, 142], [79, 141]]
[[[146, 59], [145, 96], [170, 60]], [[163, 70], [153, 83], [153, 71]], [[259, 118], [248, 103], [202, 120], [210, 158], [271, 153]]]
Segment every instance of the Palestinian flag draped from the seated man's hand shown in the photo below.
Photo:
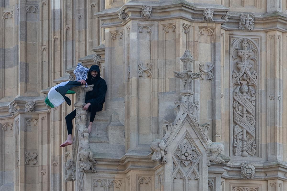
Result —
[[72, 87], [80, 86], [81, 82], [77, 81], [67, 81], [67, 82], [61, 82], [57, 86], [54, 86], [49, 91], [45, 103], [49, 105], [51, 108], [57, 107], [61, 105], [64, 101], [67, 102], [68, 105], [71, 105], [71, 100], [66, 97], [66, 94], [74, 94], [76, 93], [73, 90], [70, 90]]

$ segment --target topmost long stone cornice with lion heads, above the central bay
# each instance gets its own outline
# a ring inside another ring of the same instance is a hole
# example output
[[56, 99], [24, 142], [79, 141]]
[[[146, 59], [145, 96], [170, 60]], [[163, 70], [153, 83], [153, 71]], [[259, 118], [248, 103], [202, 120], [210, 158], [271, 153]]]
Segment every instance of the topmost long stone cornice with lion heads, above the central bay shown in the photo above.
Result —
[[[143, 19], [140, 16], [143, 5], [152, 6], [152, 13], [148, 19]], [[205, 8], [214, 9], [211, 21], [205, 21], [203, 19], [203, 11]], [[120, 9], [128, 14], [127, 19], [124, 19], [123, 21], [118, 19], [118, 11]], [[95, 13], [94, 15], [99, 17], [100, 20], [104, 21], [101, 27], [107, 28], [125, 25], [125, 23], [129, 22], [130, 20], [163, 21], [181, 18], [193, 22], [223, 23], [224, 20], [222, 20], [221, 17], [226, 15], [226, 13], [229, 11], [229, 8], [223, 5], [190, 3], [185, 0], [166, 0], [158, 2], [146, 1], [144, 4], [139, 3], [138, 1], [128, 1], [120, 9], [105, 9], [101, 12]]]

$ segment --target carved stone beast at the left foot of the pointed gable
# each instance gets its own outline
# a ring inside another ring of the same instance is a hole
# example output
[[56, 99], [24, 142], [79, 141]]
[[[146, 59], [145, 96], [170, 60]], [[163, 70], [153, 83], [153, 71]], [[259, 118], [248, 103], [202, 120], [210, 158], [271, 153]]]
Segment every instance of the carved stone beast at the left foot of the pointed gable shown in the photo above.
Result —
[[166, 164], [167, 145], [161, 139], [155, 139], [150, 145], [150, 151], [153, 153], [152, 161], [158, 161], [161, 164]]

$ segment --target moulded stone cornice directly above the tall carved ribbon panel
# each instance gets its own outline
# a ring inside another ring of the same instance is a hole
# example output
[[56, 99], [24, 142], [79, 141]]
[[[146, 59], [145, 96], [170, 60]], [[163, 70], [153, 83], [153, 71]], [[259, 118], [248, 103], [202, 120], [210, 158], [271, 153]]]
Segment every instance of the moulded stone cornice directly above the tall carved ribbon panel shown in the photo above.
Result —
[[[222, 25], [221, 28], [225, 30], [238, 31], [240, 14], [242, 12], [228, 12], [228, 22]], [[287, 32], [287, 14], [280, 12], [273, 13], [247, 13], [254, 14], [254, 29], [248, 31], [274, 31]], [[242, 30], [241, 30], [242, 31]], [[247, 30], [243, 30], [247, 31]]]

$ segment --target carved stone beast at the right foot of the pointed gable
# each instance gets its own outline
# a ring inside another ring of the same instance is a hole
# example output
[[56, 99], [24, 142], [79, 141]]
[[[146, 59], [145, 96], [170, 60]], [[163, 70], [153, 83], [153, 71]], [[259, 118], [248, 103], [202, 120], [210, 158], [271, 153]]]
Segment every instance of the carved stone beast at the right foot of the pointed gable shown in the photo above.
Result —
[[207, 147], [207, 166], [210, 166], [210, 162], [214, 162], [216, 164], [223, 164], [225, 161], [222, 159], [220, 154], [223, 152], [224, 145], [218, 142], [212, 142], [210, 139], [208, 140], [210, 146]]

